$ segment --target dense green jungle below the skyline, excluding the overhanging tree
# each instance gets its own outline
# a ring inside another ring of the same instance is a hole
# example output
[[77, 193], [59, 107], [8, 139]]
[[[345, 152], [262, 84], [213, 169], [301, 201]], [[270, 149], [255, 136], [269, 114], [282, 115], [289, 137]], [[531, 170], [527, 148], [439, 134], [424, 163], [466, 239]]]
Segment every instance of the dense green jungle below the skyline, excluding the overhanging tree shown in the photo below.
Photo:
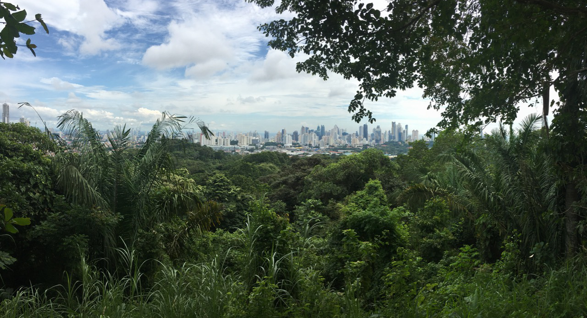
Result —
[[0, 123], [2, 316], [587, 314], [538, 116], [397, 160], [227, 154], [190, 123], [163, 114], [139, 148], [76, 111], [69, 141]]

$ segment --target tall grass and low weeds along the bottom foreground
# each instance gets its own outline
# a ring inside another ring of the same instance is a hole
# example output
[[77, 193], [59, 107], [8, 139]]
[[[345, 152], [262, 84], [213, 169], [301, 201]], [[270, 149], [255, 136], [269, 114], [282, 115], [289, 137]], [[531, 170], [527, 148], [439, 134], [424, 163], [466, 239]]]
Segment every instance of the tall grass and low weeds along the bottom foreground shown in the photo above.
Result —
[[[360, 278], [349, 279], [343, 290], [333, 290], [318, 270], [302, 266], [308, 249], [283, 254], [274, 249], [255, 255], [251, 246], [255, 232], [249, 228], [239, 234], [243, 245], [238, 248], [244, 259], [238, 270], [229, 271], [219, 256], [195, 265], [160, 264], [147, 285], [142, 283], [136, 251], [125, 246], [118, 251], [122, 260], [118, 272], [98, 270], [82, 258], [76, 279], [68, 274], [63, 285], [16, 290], [0, 302], [0, 317], [587, 316], [583, 256], [542, 275], [524, 277], [497, 270], [440, 270], [414, 287], [418, 290], [409, 292], [411, 296], [366, 304], [358, 292]], [[301, 235], [299, 240], [299, 246], [308, 246], [308, 237]]]

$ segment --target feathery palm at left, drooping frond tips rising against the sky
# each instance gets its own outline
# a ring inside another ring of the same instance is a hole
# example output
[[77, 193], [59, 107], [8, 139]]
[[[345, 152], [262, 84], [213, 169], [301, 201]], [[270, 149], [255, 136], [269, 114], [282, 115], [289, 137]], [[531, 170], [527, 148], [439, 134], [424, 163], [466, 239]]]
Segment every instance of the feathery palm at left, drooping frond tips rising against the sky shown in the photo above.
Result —
[[193, 124], [206, 138], [211, 136], [203, 121], [164, 112], [133, 154], [126, 125], [115, 127], [104, 144], [79, 111], [59, 116], [58, 128], [66, 132], [67, 141], [58, 139], [55, 154], [58, 187], [74, 204], [102, 210], [112, 218], [114, 225], [104, 234], [106, 247], [116, 246], [118, 236], [132, 239], [139, 229], [173, 215], [183, 216], [188, 226], [218, 221], [220, 206], [203, 201], [197, 188], [173, 175], [170, 143]]

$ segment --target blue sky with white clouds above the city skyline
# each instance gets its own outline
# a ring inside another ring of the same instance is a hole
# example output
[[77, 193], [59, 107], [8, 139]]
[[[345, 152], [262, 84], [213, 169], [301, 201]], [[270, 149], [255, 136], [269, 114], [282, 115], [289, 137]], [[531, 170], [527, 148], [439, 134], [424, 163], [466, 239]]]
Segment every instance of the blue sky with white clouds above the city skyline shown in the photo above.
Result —
[[[24, 116], [41, 125], [35, 111], [17, 108], [28, 102], [49, 127], [70, 109], [82, 111], [100, 130], [118, 124], [146, 130], [161, 111], [195, 116], [213, 131], [359, 127], [347, 111], [358, 82], [296, 73], [303, 56], [292, 59], [268, 48], [257, 26], [288, 18], [272, 8], [245, 0], [15, 4], [29, 17], [41, 13], [50, 33], [33, 22], [37, 56], [20, 48], [14, 59], [0, 61], [0, 102], [11, 105], [12, 121]], [[396, 121], [423, 134], [441, 117], [427, 110], [429, 101], [421, 96], [414, 88], [366, 106], [382, 130]], [[534, 111], [521, 107], [519, 117]]]

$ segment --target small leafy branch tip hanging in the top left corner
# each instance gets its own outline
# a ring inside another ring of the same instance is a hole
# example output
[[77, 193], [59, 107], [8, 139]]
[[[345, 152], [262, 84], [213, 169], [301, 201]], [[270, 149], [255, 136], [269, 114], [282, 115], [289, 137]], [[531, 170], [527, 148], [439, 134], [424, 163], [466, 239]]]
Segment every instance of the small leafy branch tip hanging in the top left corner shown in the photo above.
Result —
[[49, 29], [41, 18], [41, 15], [37, 13], [34, 20], [25, 21], [26, 10], [21, 10], [18, 5], [0, 2], [0, 19], [4, 19], [4, 22], [0, 22], [4, 24], [4, 28], [0, 31], [0, 56], [2, 56], [2, 59], [4, 59], [4, 56], [12, 59], [19, 46], [25, 46], [36, 56], [34, 50], [36, 49], [36, 45], [31, 43], [31, 39], [27, 39], [25, 44], [22, 45], [16, 43], [15, 38], [20, 38], [21, 33], [25, 35], [35, 34], [35, 27], [27, 24], [33, 21], [41, 23], [45, 32], [49, 33]]

